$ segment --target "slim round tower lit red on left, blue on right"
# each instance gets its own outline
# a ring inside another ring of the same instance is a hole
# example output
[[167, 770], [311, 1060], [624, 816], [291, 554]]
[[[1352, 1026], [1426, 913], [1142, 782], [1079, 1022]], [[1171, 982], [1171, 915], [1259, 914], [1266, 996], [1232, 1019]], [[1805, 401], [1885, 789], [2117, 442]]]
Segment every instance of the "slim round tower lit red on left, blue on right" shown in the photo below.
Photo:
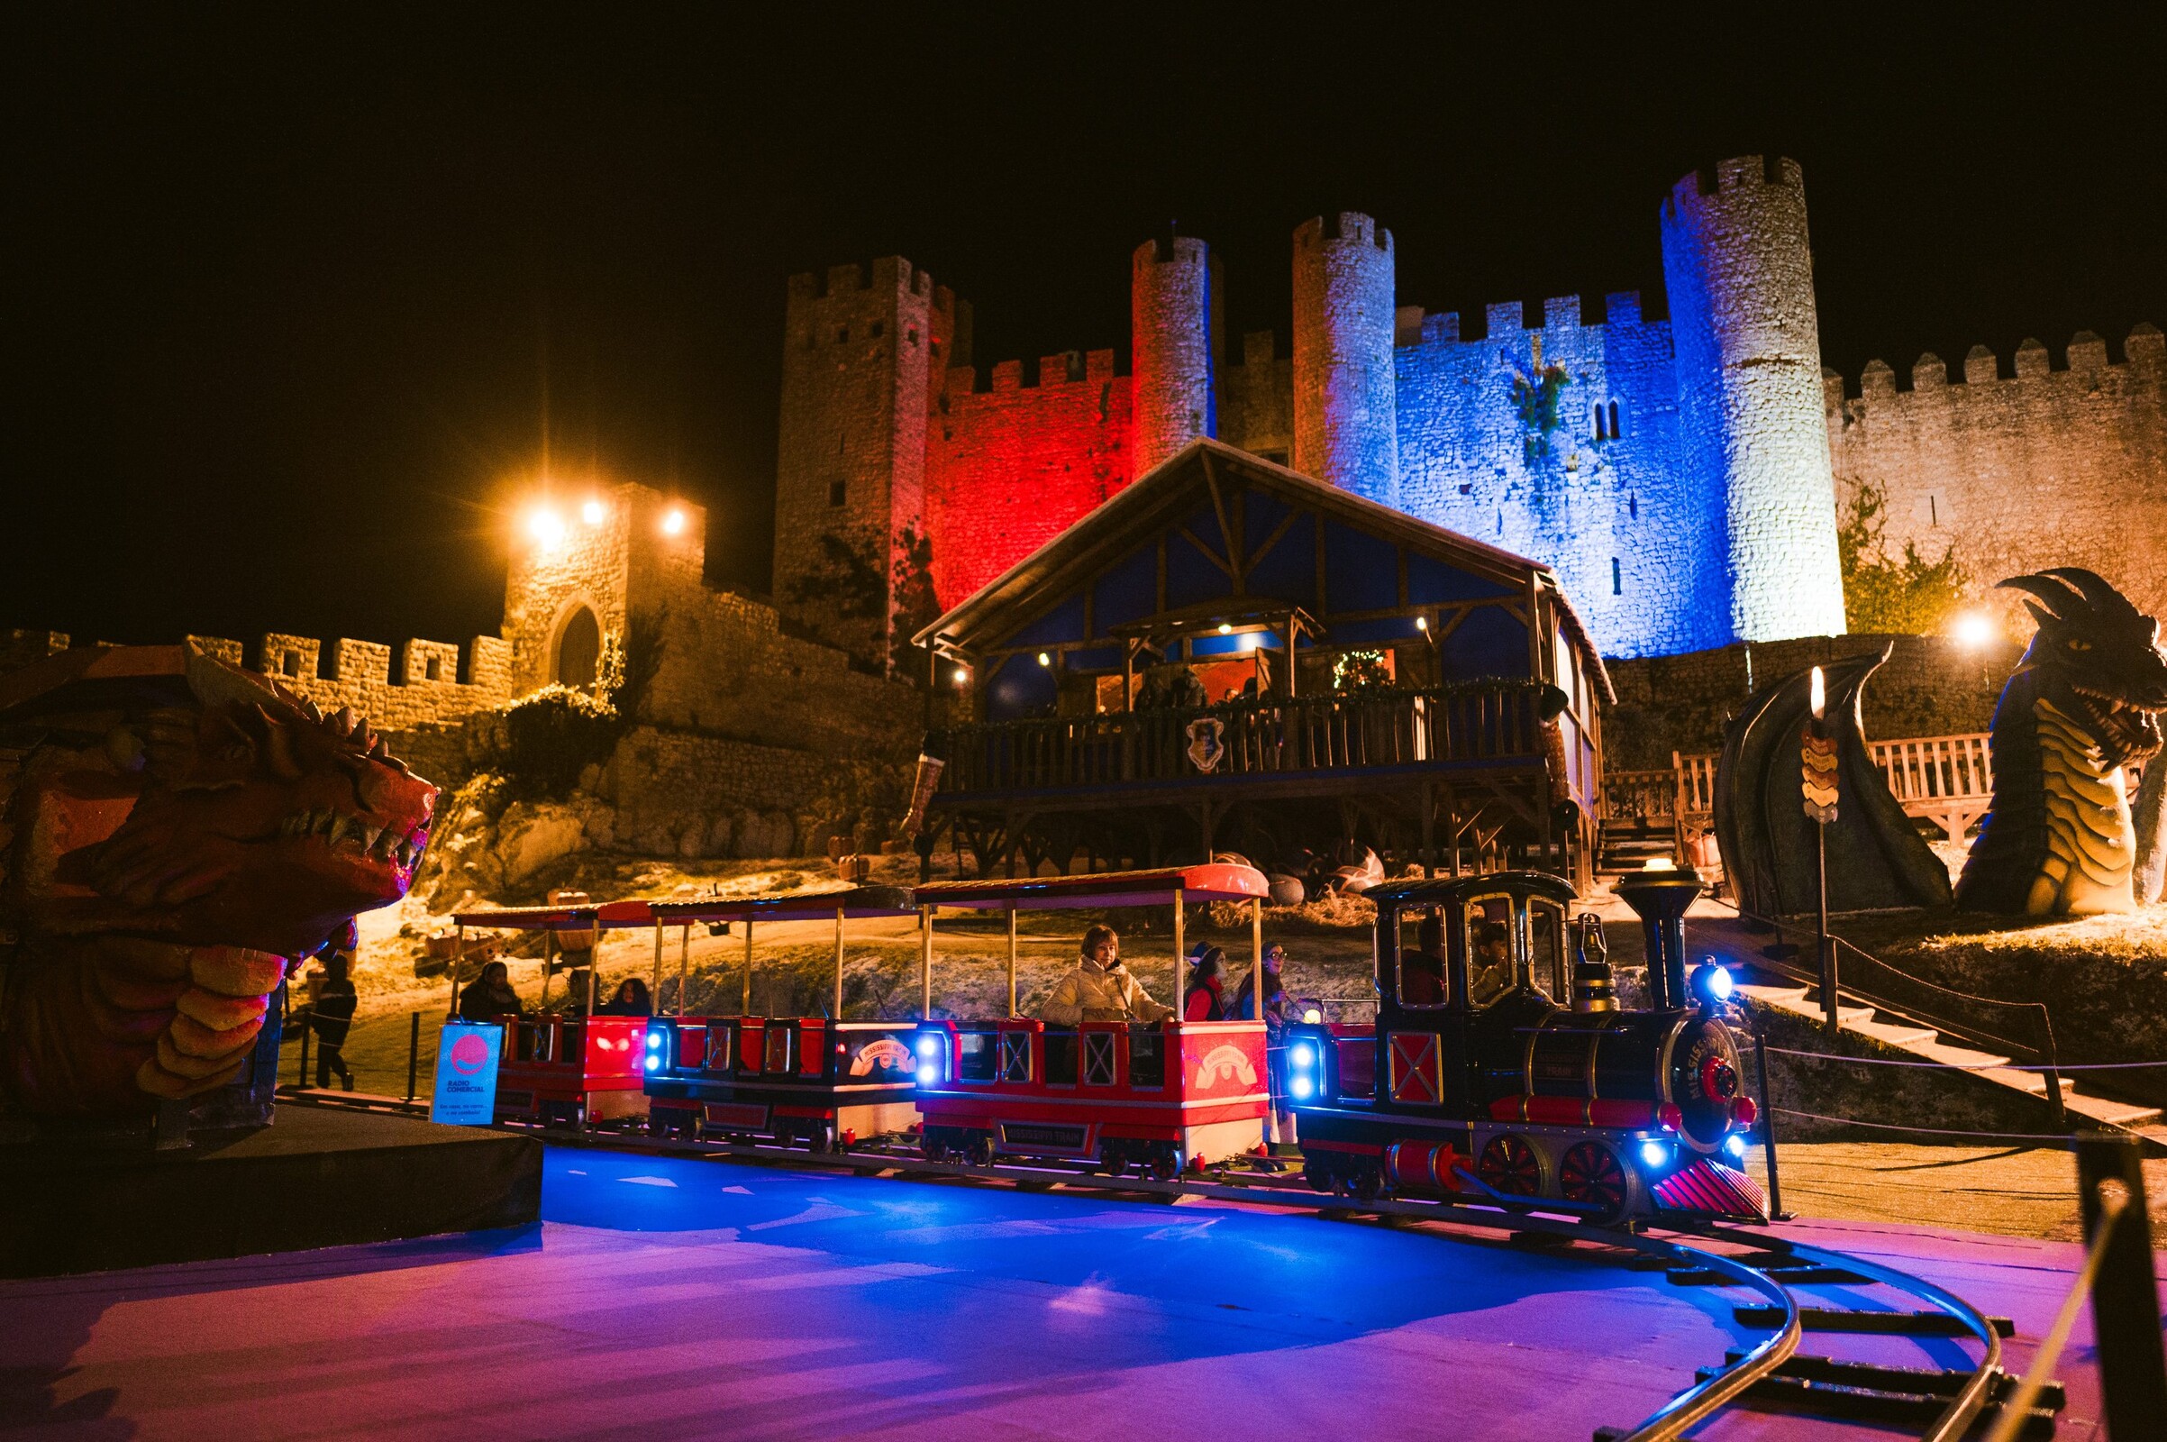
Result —
[[1196, 236], [1144, 241], [1129, 278], [1136, 438], [1131, 477], [1218, 436], [1218, 256]]

